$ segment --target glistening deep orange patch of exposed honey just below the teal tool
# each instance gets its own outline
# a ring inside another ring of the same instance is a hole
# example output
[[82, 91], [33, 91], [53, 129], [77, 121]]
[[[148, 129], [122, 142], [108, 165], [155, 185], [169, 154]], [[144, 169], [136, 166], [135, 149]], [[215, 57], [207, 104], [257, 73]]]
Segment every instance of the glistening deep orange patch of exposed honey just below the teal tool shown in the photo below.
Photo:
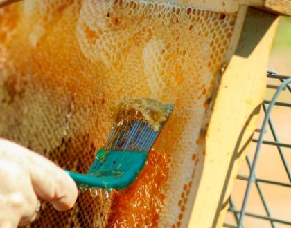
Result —
[[114, 193], [107, 227], [157, 227], [165, 198], [161, 190], [168, 180], [169, 163], [166, 152], [150, 151], [135, 182]]

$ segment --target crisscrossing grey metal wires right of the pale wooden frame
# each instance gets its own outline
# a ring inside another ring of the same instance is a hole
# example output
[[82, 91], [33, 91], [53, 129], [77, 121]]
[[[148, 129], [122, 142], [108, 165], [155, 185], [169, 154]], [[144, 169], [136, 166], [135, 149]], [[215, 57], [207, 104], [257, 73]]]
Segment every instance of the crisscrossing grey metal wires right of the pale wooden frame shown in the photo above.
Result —
[[[290, 91], [291, 93], [291, 86], [289, 84], [291, 84], [291, 77], [289, 76], [284, 76], [284, 75], [278, 75], [274, 70], [267, 70], [267, 76], [269, 78], [272, 79], [279, 79], [279, 81], [281, 82], [280, 86], [269, 86], [269, 88], [276, 88], [276, 93], [274, 94], [274, 97], [271, 100], [265, 100], [262, 104], [263, 106], [263, 111], [265, 113], [265, 119], [263, 121], [263, 125], [261, 127], [261, 131], [260, 131], [260, 135], [258, 137], [258, 139], [253, 139], [253, 142], [256, 142], [256, 151], [254, 154], [254, 159], [251, 162], [249, 159], [249, 156], [247, 155], [246, 157], [246, 161], [247, 161], [247, 165], [249, 167], [249, 176], [247, 175], [238, 175], [238, 180], [245, 180], [247, 181], [247, 188], [245, 191], [245, 196], [244, 196], [244, 200], [243, 200], [243, 205], [241, 207], [240, 210], [236, 209], [236, 206], [234, 205], [233, 202], [233, 198], [231, 197], [229, 199], [229, 211], [231, 213], [233, 213], [233, 216], [236, 220], [236, 225], [231, 225], [228, 223], [224, 223], [224, 227], [238, 227], [238, 228], [242, 228], [243, 227], [243, 220], [245, 218], [245, 216], [250, 216], [253, 218], [259, 218], [261, 220], [267, 220], [270, 222], [271, 227], [276, 227], [275, 226], [275, 222], [281, 223], [281, 224], [285, 224], [285, 225], [291, 225], [291, 220], [287, 221], [287, 220], [281, 220], [278, 218], [273, 218], [271, 213], [270, 213], [270, 209], [267, 205], [267, 200], [265, 199], [265, 196], [263, 195], [263, 191], [261, 189], [261, 183], [265, 183], [265, 184], [273, 184], [276, 186], [281, 186], [281, 187], [288, 187], [290, 188], [291, 191], [291, 173], [290, 173], [290, 169], [288, 167], [288, 162], [285, 159], [285, 155], [283, 153], [282, 148], [291, 148], [291, 144], [286, 144], [286, 143], [281, 143], [279, 142], [279, 138], [278, 135], [276, 134], [276, 130], [274, 128], [274, 124], [270, 118], [270, 114], [272, 112], [272, 108], [274, 106], [284, 106], [284, 107], [289, 107], [291, 108], [291, 104], [290, 103], [285, 103], [285, 102], [276, 102], [281, 91], [285, 90], [286, 88], [288, 89], [288, 91]], [[266, 132], [266, 128], [267, 125], [270, 127], [271, 133], [272, 133], [272, 137], [274, 141], [268, 141], [268, 140], [263, 140], [264, 134]], [[266, 180], [263, 178], [256, 178], [255, 175], [255, 170], [256, 170], [256, 164], [258, 162], [258, 155], [261, 151], [261, 146], [262, 144], [268, 144], [268, 145], [272, 145], [272, 146], [276, 146], [277, 150], [279, 152], [281, 161], [283, 163], [283, 167], [285, 169], [285, 173], [288, 176], [288, 180], [289, 182], [277, 182], [274, 180]], [[265, 213], [267, 216], [261, 216], [258, 215], [256, 213], [249, 213], [246, 212], [246, 207], [247, 207], [247, 202], [249, 200], [249, 193], [252, 187], [252, 183], [255, 184], [256, 189], [258, 190], [258, 194], [261, 198], [261, 202], [263, 204], [263, 207], [265, 209]]]

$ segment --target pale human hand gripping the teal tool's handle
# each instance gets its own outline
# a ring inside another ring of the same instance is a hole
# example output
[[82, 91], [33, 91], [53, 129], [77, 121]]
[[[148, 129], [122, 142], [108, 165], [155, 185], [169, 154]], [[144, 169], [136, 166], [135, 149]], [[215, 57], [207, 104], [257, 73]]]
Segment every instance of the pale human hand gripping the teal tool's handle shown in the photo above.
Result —
[[33, 151], [0, 139], [0, 227], [33, 218], [38, 198], [58, 211], [73, 207], [78, 189], [60, 167]]

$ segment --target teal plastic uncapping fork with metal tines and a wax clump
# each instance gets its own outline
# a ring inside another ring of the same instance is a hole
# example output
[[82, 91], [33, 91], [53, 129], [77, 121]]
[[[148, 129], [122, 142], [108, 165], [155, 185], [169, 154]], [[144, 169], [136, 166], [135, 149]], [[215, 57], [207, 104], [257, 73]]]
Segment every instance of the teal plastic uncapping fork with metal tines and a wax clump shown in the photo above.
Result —
[[126, 188], [143, 169], [173, 107], [137, 97], [121, 100], [114, 108], [114, 126], [107, 143], [97, 151], [87, 173], [67, 173], [81, 187]]

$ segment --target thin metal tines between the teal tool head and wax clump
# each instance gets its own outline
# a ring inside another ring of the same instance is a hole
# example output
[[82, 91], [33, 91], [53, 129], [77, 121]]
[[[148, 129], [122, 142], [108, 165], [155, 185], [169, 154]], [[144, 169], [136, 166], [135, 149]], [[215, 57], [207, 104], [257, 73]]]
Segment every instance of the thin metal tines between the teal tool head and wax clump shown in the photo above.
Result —
[[147, 122], [141, 120], [116, 125], [107, 139], [105, 149], [148, 152], [161, 129], [162, 126], [159, 131], [154, 131]]

